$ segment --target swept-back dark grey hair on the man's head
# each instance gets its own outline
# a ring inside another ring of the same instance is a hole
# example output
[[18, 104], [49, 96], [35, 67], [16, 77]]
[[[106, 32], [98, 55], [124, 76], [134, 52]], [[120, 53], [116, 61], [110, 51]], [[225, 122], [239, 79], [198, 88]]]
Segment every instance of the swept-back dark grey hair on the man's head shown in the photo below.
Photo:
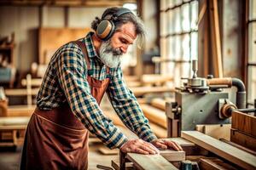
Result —
[[[112, 8], [107, 8], [104, 13], [102, 14], [101, 19], [96, 17], [96, 20], [93, 20], [91, 22], [91, 28], [96, 31], [97, 26], [102, 20], [111, 20], [113, 17], [113, 14], [116, 14], [117, 11], [119, 11], [119, 7], [112, 7]], [[145, 42], [145, 37], [146, 37], [146, 31], [143, 25], [143, 21], [136, 15], [136, 14], [122, 14], [118, 17], [118, 20], [114, 20], [113, 24], [115, 26], [115, 31], [119, 30], [119, 28], [128, 23], [131, 22], [135, 26], [135, 31], [137, 34], [137, 45], [139, 48], [142, 48]]]

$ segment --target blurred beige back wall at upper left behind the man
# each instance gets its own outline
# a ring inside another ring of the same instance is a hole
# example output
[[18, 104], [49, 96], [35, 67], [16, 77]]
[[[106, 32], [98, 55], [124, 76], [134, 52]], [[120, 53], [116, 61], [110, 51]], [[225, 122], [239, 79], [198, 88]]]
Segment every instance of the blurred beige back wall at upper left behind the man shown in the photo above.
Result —
[[[68, 27], [87, 27], [105, 8], [68, 8]], [[15, 65], [19, 71], [29, 71], [38, 60], [39, 7], [0, 6], [0, 37], [15, 32]], [[41, 26], [64, 27], [65, 9], [43, 7]], [[53, 40], [54, 41], [54, 40]]]

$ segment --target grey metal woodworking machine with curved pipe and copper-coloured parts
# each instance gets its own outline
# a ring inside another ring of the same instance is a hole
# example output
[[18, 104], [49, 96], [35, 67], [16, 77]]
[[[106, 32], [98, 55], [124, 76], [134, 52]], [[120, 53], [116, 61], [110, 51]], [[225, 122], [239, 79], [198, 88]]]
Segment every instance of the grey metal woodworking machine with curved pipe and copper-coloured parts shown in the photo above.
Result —
[[[195, 130], [197, 124], [228, 124], [232, 111], [246, 111], [246, 90], [240, 79], [197, 77], [197, 60], [192, 61], [192, 70], [193, 77], [176, 88], [175, 102], [166, 103], [168, 137], [179, 137], [183, 130]], [[232, 86], [237, 88], [236, 105], [223, 90]]]

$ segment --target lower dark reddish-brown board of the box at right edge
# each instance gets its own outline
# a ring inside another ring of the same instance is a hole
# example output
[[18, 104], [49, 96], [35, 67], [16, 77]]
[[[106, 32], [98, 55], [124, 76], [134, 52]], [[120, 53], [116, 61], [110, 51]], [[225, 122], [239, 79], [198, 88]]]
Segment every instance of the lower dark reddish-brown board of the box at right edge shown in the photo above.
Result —
[[241, 144], [242, 146], [256, 151], [256, 138], [252, 135], [247, 135], [234, 128], [231, 129], [230, 141], [236, 144]]

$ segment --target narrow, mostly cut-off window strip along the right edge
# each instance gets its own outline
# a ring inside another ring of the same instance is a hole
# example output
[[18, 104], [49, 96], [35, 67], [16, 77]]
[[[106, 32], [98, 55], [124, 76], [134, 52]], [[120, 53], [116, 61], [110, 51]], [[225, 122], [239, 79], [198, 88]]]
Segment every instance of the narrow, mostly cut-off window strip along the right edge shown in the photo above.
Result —
[[248, 17], [248, 59], [247, 59], [247, 101], [256, 99], [256, 1], [249, 1]]

